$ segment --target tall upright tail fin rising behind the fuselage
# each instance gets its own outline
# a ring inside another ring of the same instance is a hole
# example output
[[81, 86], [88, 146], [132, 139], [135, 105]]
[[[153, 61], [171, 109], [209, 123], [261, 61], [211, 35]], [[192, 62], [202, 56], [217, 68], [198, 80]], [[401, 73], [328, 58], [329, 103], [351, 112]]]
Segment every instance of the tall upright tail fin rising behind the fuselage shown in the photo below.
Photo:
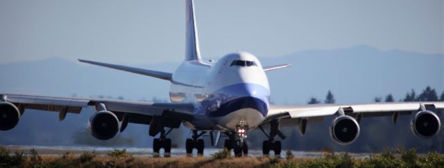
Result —
[[185, 42], [185, 61], [200, 61], [199, 40], [197, 36], [196, 17], [194, 16], [193, 0], [187, 0], [187, 39]]

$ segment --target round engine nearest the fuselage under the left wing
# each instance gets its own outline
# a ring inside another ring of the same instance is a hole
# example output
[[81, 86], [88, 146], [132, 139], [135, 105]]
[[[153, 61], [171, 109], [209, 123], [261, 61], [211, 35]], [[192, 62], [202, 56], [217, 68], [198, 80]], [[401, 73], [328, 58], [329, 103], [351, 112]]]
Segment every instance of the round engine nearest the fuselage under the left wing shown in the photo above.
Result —
[[99, 140], [113, 138], [119, 129], [119, 119], [110, 111], [99, 111], [89, 118], [89, 131]]

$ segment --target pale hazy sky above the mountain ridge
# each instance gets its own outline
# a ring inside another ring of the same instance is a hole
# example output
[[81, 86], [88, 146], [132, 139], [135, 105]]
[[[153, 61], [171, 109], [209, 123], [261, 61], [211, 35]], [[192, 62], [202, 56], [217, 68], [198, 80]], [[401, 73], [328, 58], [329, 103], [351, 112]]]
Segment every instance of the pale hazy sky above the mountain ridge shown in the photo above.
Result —
[[[444, 4], [436, 1], [196, 0], [204, 57], [258, 57], [366, 44], [444, 53]], [[139, 64], [177, 62], [185, 50], [185, 1], [0, 1], [0, 64], [63, 57]]]

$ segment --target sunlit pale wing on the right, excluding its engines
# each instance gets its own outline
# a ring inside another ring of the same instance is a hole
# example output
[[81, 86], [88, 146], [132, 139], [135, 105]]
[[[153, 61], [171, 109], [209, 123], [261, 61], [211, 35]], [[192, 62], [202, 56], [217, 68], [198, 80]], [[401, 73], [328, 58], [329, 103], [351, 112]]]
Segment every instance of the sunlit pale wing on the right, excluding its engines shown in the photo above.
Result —
[[336, 115], [341, 109], [345, 115], [359, 118], [411, 114], [422, 108], [432, 111], [443, 110], [444, 102], [387, 102], [370, 104], [309, 104], [309, 105], [271, 105], [268, 109], [266, 120], [275, 119], [308, 119], [323, 118], [328, 115]]

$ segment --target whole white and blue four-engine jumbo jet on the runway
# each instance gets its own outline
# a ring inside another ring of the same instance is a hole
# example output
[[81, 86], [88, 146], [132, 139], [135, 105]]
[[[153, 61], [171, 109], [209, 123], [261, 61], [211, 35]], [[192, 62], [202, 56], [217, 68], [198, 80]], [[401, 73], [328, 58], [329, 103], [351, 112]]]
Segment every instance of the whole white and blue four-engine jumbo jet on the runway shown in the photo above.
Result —
[[[217, 62], [204, 62], [200, 57], [194, 1], [186, 1], [185, 59], [173, 73], [133, 68], [116, 64], [80, 62], [128, 71], [171, 82], [170, 103], [130, 102], [74, 97], [46, 97], [38, 95], [0, 94], [0, 130], [14, 128], [26, 109], [58, 111], [59, 120], [67, 113], [80, 113], [94, 106], [96, 113], [89, 118], [89, 131], [99, 140], [109, 140], [126, 129], [129, 123], [149, 125], [153, 152], [171, 155], [172, 129], [184, 125], [192, 132], [185, 142], [187, 155], [194, 149], [203, 155], [204, 135], [211, 144], [219, 143], [225, 135], [223, 147], [233, 150], [235, 156], [248, 156], [247, 133], [261, 130], [268, 139], [263, 141], [262, 153], [280, 155], [282, 140], [286, 138], [281, 127], [297, 127], [304, 135], [307, 124], [335, 116], [330, 125], [330, 137], [339, 144], [350, 144], [359, 136], [362, 118], [412, 115], [411, 131], [420, 138], [432, 138], [440, 131], [441, 120], [436, 112], [444, 109], [444, 102], [392, 102], [369, 104], [309, 104], [274, 105], [270, 102], [270, 86], [266, 73], [289, 64], [262, 66], [255, 55], [234, 52]], [[267, 131], [266, 131], [267, 130]], [[269, 131], [268, 131], [269, 130]], [[216, 134], [214, 136], [214, 133]]]

